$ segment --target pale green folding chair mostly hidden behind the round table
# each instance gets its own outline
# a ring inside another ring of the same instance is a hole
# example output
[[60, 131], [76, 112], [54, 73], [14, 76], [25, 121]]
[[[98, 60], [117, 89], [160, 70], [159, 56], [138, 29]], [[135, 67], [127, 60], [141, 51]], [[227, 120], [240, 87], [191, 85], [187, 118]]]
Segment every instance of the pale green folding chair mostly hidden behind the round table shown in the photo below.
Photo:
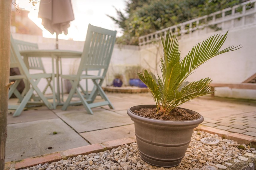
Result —
[[[26, 41], [21, 41], [21, 40], [14, 40], [15, 44], [18, 46], [19, 51], [24, 51], [24, 50], [35, 50], [38, 49], [38, 45], [36, 43], [30, 43]], [[40, 70], [42, 73], [46, 73], [45, 68], [43, 66], [42, 59], [40, 57], [28, 57], [28, 69], [33, 69], [33, 70]], [[43, 94], [45, 94], [46, 90], [48, 87], [50, 87], [52, 91], [52, 86], [51, 86], [51, 78], [47, 78], [47, 85], [45, 89], [43, 90]], [[27, 88], [27, 82], [25, 82], [25, 90], [22, 92], [22, 95], [29, 89]]]

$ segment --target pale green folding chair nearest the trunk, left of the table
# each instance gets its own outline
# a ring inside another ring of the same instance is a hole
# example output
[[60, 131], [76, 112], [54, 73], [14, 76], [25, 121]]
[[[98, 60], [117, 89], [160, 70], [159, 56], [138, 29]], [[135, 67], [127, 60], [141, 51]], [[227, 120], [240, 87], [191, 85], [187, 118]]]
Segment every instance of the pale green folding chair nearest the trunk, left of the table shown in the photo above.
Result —
[[[45, 104], [49, 109], [54, 109], [55, 104], [55, 92], [54, 92], [54, 83], [53, 83], [53, 104], [49, 103], [47, 98], [43, 95], [43, 93], [40, 91], [40, 89], [37, 87], [38, 83], [42, 78], [54, 78], [54, 74], [51, 73], [39, 73], [39, 74], [29, 74], [28, 68], [25, 65], [25, 62], [23, 61], [19, 49], [16, 46], [12, 36], [11, 36], [11, 51], [10, 51], [10, 68], [18, 67], [20, 71], [20, 75], [14, 75], [10, 76], [10, 81], [14, 81], [13, 85], [10, 86], [9, 89], [9, 98], [12, 94], [16, 95], [17, 98], [19, 98], [20, 103], [19, 105], [8, 105], [8, 109], [14, 109], [16, 110], [13, 114], [13, 116], [18, 116], [21, 114], [23, 109], [28, 104]], [[19, 91], [16, 89], [19, 82], [21, 80], [25, 80], [29, 82], [29, 89], [26, 92], [26, 94], [23, 96], [19, 93]], [[33, 92], [36, 92], [38, 95], [38, 98], [40, 100], [38, 101], [30, 101], [31, 97], [33, 95]]]

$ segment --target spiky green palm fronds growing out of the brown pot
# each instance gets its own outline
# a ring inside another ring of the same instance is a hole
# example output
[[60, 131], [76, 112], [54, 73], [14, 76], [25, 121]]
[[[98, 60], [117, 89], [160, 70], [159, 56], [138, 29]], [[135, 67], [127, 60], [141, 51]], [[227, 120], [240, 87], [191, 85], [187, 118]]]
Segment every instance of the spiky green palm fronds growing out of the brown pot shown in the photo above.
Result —
[[[227, 32], [228, 33], [228, 32]], [[163, 44], [163, 57], [160, 59], [161, 76], [154, 76], [152, 72], [144, 70], [137, 75], [151, 90], [157, 105], [157, 113], [169, 114], [172, 109], [182, 103], [212, 93], [210, 78], [203, 78], [191, 83], [186, 78], [200, 65], [216, 55], [234, 51], [239, 46], [230, 46], [220, 50], [227, 38], [225, 35], [213, 35], [202, 43], [198, 43], [181, 60], [177, 38], [167, 31]], [[160, 108], [160, 110], [158, 110]]]

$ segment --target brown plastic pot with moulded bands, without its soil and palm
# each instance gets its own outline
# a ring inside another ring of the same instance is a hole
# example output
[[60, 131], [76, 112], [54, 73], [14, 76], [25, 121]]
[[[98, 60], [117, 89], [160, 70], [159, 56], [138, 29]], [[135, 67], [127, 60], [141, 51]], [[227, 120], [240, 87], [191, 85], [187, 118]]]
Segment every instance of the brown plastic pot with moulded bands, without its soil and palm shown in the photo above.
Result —
[[185, 109], [199, 118], [187, 121], [170, 121], [147, 118], [134, 113], [140, 108], [155, 108], [155, 105], [134, 106], [127, 114], [134, 121], [135, 135], [140, 156], [146, 162], [163, 167], [177, 166], [185, 156], [194, 128], [204, 121], [202, 115]]

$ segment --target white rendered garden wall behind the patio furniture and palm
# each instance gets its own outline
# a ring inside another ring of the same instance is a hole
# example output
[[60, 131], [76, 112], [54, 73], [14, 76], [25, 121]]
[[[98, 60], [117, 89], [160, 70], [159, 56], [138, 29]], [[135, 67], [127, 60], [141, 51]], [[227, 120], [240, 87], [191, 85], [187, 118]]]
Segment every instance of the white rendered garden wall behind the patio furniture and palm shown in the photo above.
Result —
[[[235, 28], [229, 31], [228, 38], [223, 47], [242, 44], [243, 48], [216, 56], [207, 63], [200, 66], [189, 78], [188, 81], [199, 80], [210, 77], [213, 82], [241, 83], [256, 72], [256, 25]], [[203, 33], [204, 32], [204, 33]], [[212, 30], [201, 30], [198, 33], [184, 35], [178, 38], [181, 56], [184, 57], [189, 50], [198, 42], [203, 41], [215, 33], [225, 33], [226, 31], [212, 32]], [[202, 34], [201, 34], [202, 33]], [[39, 49], [55, 49], [55, 39], [43, 38], [33, 35], [13, 34], [13, 38], [37, 43]], [[84, 42], [72, 40], [59, 40], [59, 49], [82, 51]], [[159, 58], [162, 47], [158, 44], [149, 45], [139, 49], [138, 46], [115, 45], [110, 66], [104, 85], [112, 84], [114, 74], [125, 75], [126, 67], [140, 64], [143, 68], [149, 68], [153, 72], [160, 73]], [[44, 58], [43, 63], [47, 72], [51, 72], [51, 59]], [[69, 74], [79, 64], [77, 59], [65, 59], [62, 61], [63, 74]], [[128, 84], [128, 80], [124, 80]], [[85, 86], [85, 85], [84, 85]], [[93, 84], [89, 83], [89, 89]], [[227, 87], [216, 88], [216, 96], [231, 98], [256, 99], [256, 90], [229, 89]], [[65, 89], [64, 89], [65, 91]]]

